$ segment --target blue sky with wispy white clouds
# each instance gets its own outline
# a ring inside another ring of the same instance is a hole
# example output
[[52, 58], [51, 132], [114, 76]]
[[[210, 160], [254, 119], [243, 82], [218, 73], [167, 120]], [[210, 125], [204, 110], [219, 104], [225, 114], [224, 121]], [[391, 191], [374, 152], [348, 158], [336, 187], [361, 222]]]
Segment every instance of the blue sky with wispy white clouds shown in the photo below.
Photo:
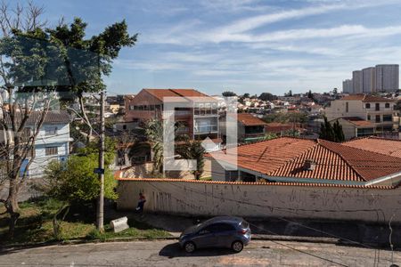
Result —
[[401, 1], [45, 1], [55, 24], [88, 35], [126, 19], [139, 33], [106, 77], [109, 93], [197, 88], [217, 94], [327, 92], [354, 69], [401, 60]]

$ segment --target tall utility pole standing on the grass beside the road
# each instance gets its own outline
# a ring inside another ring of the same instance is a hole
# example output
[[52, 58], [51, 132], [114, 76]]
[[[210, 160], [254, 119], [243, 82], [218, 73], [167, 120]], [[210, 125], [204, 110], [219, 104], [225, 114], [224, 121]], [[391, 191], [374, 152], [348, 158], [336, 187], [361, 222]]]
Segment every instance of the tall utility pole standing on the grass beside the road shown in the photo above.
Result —
[[104, 92], [101, 93], [101, 133], [99, 138], [99, 181], [100, 181], [100, 194], [98, 199], [98, 206], [96, 211], [96, 228], [98, 231], [103, 229], [103, 210], [104, 210]]

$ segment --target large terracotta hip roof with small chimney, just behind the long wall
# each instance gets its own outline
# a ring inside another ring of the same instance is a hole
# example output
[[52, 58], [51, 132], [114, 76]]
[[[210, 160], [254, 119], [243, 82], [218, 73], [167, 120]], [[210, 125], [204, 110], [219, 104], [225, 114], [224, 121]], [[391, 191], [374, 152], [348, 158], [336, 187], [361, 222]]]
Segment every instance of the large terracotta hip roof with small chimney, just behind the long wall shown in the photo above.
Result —
[[[401, 172], [401, 158], [323, 140], [282, 137], [241, 145], [237, 153], [239, 167], [267, 176], [367, 182]], [[314, 170], [304, 169], [307, 159]]]

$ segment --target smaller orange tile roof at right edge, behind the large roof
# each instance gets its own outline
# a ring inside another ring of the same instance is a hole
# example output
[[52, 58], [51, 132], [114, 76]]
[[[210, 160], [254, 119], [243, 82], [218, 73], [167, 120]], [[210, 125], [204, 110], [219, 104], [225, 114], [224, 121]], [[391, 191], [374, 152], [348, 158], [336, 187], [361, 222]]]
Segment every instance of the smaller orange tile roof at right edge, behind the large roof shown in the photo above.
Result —
[[343, 142], [342, 144], [348, 147], [401, 158], [401, 140], [371, 136]]

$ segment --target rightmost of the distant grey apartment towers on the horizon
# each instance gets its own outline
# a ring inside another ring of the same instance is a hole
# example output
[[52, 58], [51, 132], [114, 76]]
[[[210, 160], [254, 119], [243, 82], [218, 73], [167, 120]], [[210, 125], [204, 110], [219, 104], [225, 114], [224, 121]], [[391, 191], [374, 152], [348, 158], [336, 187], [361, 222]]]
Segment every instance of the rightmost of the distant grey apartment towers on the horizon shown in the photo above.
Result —
[[397, 64], [376, 65], [376, 88], [378, 92], [392, 92], [399, 89]]

